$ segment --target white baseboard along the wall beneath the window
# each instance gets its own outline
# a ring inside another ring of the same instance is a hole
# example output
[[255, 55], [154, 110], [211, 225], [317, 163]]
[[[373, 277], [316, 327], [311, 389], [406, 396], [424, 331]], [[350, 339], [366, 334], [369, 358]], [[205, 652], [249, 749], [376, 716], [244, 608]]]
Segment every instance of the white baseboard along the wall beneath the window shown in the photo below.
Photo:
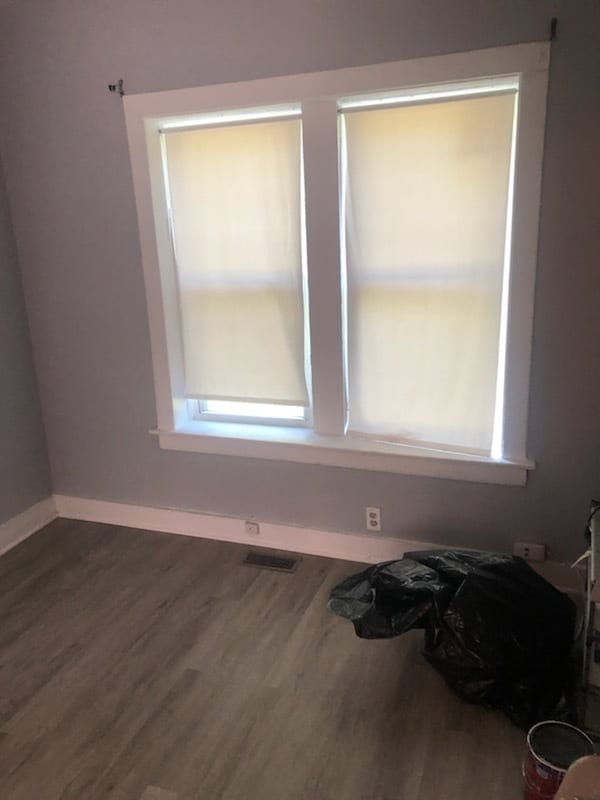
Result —
[[384, 536], [362, 536], [356, 533], [324, 531], [261, 521], [259, 521], [260, 534], [251, 536], [246, 533], [244, 520], [233, 517], [65, 495], [55, 495], [54, 499], [60, 517], [217, 539], [345, 561], [377, 563], [401, 558], [405, 552], [411, 550], [434, 550], [441, 547], [429, 542], [414, 542]]

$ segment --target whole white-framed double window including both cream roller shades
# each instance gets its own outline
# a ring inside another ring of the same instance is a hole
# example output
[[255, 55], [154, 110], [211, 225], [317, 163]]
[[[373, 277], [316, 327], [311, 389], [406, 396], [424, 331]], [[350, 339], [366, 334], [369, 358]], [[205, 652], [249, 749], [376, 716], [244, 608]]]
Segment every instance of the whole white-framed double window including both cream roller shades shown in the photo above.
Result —
[[523, 483], [547, 65], [126, 97], [161, 446]]

